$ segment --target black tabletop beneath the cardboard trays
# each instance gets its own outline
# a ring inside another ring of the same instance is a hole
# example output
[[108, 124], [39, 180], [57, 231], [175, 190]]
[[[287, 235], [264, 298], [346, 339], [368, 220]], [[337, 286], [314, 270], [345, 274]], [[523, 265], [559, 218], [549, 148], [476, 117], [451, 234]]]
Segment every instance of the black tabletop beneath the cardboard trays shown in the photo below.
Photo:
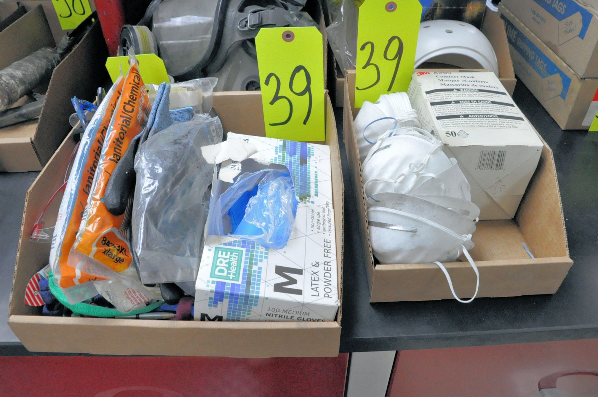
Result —
[[[554, 151], [570, 257], [575, 262], [559, 291], [478, 298], [470, 304], [453, 300], [370, 304], [361, 237], [345, 228], [341, 352], [598, 338], [598, 135], [560, 130], [521, 83], [514, 99]], [[342, 112], [335, 113], [341, 132]], [[342, 142], [341, 157], [349, 190]], [[27, 353], [6, 321], [25, 194], [36, 175], [0, 173], [0, 354]], [[345, 194], [345, 200], [348, 219], [357, 207], [352, 194]]]

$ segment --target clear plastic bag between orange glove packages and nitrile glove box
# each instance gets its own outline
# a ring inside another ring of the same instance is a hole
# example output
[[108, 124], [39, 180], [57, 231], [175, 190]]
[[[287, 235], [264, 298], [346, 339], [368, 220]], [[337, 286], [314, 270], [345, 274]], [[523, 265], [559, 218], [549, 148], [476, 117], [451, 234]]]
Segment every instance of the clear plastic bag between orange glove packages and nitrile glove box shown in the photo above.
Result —
[[221, 141], [219, 118], [198, 114], [139, 146], [132, 230], [142, 282], [195, 281], [214, 170], [201, 147]]

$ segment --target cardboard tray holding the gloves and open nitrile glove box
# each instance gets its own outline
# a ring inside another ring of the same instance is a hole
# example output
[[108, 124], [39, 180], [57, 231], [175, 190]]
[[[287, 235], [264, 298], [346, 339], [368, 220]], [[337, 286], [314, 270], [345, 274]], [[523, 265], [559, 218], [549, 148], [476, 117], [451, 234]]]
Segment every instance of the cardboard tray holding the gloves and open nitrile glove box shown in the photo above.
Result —
[[[325, 144], [330, 146], [331, 154], [340, 300], [343, 177], [334, 113], [328, 95], [326, 103]], [[213, 108], [221, 118], [225, 132], [264, 136], [259, 91], [214, 93]], [[28, 350], [103, 355], [255, 358], [338, 355], [341, 309], [336, 320], [329, 322], [218, 322], [47, 317], [40, 315], [39, 308], [26, 306], [23, 298], [26, 285], [30, 277], [47, 264], [50, 255], [50, 244], [31, 242], [30, 231], [52, 194], [62, 185], [62, 175], [65, 174], [74, 147], [71, 132], [39, 173], [25, 199], [8, 325]]]

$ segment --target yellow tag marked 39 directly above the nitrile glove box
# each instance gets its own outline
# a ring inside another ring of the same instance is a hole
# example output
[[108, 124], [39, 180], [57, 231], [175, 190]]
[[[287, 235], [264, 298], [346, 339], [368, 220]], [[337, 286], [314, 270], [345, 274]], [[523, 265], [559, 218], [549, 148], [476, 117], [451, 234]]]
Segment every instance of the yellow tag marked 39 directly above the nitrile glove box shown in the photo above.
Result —
[[306, 28], [262, 28], [255, 38], [266, 136], [324, 141], [322, 33]]

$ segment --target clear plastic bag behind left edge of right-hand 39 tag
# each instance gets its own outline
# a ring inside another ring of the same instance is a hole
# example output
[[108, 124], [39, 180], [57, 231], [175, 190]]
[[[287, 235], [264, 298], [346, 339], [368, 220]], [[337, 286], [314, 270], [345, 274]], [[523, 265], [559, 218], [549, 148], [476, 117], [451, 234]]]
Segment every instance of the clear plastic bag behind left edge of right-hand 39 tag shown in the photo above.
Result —
[[357, 59], [357, 16], [361, 1], [342, 0], [332, 4], [332, 23], [326, 28], [328, 43], [341, 70], [355, 69]]

